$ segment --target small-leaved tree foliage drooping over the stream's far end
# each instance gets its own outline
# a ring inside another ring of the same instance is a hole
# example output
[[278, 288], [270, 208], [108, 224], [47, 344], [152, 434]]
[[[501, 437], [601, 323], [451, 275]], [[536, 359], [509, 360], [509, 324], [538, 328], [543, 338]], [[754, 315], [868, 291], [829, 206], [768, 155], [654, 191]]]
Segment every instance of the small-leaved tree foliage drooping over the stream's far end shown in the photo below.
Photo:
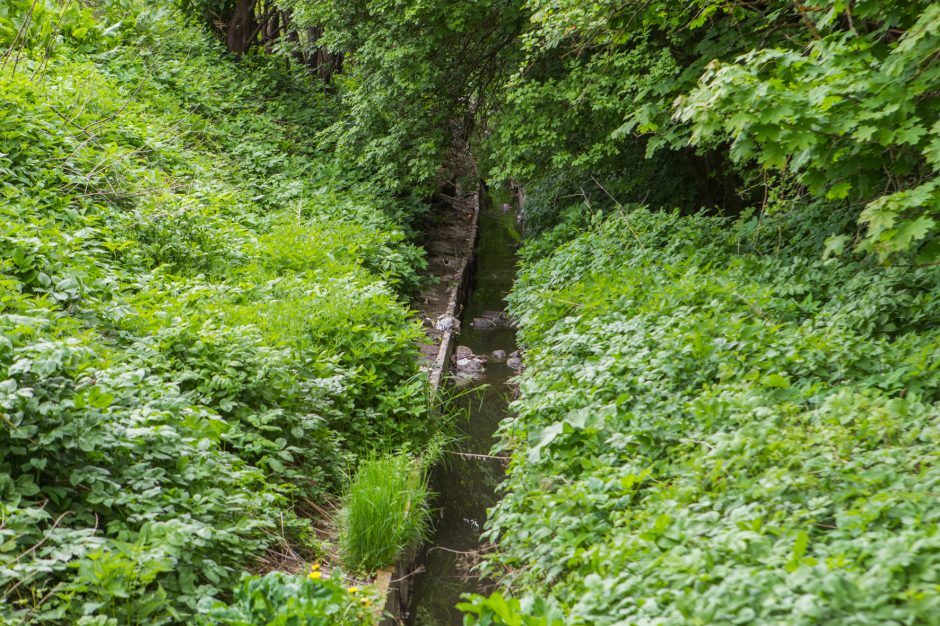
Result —
[[[329, 138], [392, 189], [433, 189], [451, 150], [474, 137], [517, 58], [515, 3], [289, 0], [295, 19], [348, 55], [344, 115]], [[445, 172], [447, 173], [447, 172]]]

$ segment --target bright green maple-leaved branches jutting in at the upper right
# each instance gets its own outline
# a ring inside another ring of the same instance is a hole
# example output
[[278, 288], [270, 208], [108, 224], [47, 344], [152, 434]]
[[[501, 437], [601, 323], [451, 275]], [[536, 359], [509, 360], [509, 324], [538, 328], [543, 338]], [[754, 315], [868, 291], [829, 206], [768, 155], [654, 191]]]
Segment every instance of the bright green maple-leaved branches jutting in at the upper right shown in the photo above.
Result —
[[894, 15], [881, 3], [855, 7], [899, 22], [896, 39], [886, 26], [847, 32], [832, 7], [817, 21], [826, 36], [804, 50], [751, 50], [709, 66], [677, 116], [691, 122], [694, 144], [730, 140], [737, 161], [789, 170], [827, 200], [867, 203], [862, 249], [935, 261], [940, 246], [924, 244], [936, 240], [940, 206], [940, 104], [927, 95], [940, 86], [940, 6], [911, 4]]

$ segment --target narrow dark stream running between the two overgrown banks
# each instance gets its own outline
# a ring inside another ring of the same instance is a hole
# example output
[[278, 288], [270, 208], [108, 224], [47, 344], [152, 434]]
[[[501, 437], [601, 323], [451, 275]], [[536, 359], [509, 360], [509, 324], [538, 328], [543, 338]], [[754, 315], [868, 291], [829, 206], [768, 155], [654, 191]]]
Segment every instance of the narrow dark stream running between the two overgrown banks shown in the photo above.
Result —
[[[498, 190], [482, 198], [476, 278], [457, 342], [488, 359], [485, 374], [472, 383], [479, 388], [457, 400], [466, 415], [458, 424], [462, 435], [459, 449], [470, 454], [489, 453], [496, 427], [506, 415], [511, 391], [507, 381], [516, 373], [505, 360], [490, 356], [496, 350], [507, 355], [515, 351], [515, 331], [507, 327], [482, 330], [472, 325], [476, 318], [505, 309], [515, 278], [520, 236], [516, 211], [507, 208], [506, 202], [508, 195]], [[486, 510], [496, 503], [495, 489], [505, 467], [494, 459], [447, 456], [434, 477], [440, 494], [436, 506], [441, 513], [427, 548], [425, 571], [415, 580], [413, 626], [460, 626], [463, 617], [455, 608], [460, 595], [482, 593], [486, 587], [486, 581], [477, 577], [471, 566], [476, 562]]]

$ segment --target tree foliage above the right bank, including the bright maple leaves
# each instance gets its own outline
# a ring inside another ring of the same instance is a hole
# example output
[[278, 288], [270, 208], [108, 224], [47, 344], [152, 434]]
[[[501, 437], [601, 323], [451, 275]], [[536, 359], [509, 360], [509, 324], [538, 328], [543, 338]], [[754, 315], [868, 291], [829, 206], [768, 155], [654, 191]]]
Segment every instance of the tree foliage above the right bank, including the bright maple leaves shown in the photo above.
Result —
[[725, 214], [784, 194], [855, 211], [862, 252], [936, 260], [935, 3], [526, 7], [526, 60], [489, 146], [498, 177], [538, 192], [536, 225], [601, 189]]

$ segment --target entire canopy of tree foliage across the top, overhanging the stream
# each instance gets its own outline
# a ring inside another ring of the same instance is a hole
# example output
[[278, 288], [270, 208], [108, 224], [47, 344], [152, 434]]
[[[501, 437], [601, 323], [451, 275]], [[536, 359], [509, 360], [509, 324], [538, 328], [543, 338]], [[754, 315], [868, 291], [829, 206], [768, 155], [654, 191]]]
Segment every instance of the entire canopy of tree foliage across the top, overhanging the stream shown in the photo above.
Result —
[[856, 212], [861, 236], [832, 250], [916, 263], [940, 250], [927, 0], [275, 8], [346, 59], [321, 138], [387, 188], [433, 187], [469, 142], [492, 178], [536, 197], [535, 230], [572, 195], [726, 215], [783, 195]]

